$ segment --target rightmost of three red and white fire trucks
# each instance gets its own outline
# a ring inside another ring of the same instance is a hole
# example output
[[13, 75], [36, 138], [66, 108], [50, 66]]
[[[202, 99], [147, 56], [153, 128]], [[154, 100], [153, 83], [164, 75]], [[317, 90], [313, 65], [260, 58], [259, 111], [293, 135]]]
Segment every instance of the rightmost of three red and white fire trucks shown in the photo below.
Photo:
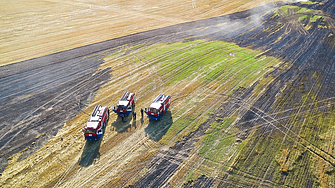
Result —
[[169, 95], [159, 94], [152, 102], [149, 108], [145, 108], [144, 112], [148, 118], [160, 120], [170, 107], [171, 97]]

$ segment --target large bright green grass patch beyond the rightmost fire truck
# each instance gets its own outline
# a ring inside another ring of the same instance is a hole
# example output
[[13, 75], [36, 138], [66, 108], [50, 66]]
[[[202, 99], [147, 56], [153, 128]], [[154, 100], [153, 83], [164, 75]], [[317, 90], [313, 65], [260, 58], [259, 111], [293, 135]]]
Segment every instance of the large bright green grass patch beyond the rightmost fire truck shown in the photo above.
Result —
[[[163, 45], [155, 48], [156, 56], [163, 57], [157, 62], [160, 65], [157, 72], [167, 85], [175, 85], [178, 82], [197, 77], [203, 83], [201, 87], [226, 88], [228, 89], [227, 94], [230, 94], [238, 87], [249, 87], [262, 78], [265, 72], [271, 70], [268, 67], [280, 63], [276, 58], [259, 57], [260, 52], [241, 48], [234, 43], [199, 40], [173, 45], [177, 49], [170, 50], [175, 53], [168, 53]], [[160, 50], [161, 48], [162, 50]], [[164, 56], [164, 54], [171, 55]], [[203, 97], [205, 97], [205, 94], [200, 95], [199, 99]], [[198, 124], [192, 123], [193, 120], [201, 115], [206, 106], [209, 106], [208, 104], [212, 102], [204, 101], [202, 105], [199, 104], [197, 108], [191, 110], [189, 115], [174, 122], [163, 139], [172, 138], [173, 135], [183, 131], [188, 126], [197, 127]], [[194, 98], [186, 100], [184, 109], [180, 109], [174, 115], [183, 114], [192, 107], [192, 103], [194, 103]]]

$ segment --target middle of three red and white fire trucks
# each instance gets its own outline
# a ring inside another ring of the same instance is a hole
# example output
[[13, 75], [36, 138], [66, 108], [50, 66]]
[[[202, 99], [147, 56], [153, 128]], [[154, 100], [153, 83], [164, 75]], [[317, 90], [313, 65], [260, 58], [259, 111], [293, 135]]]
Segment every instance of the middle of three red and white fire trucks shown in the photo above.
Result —
[[125, 92], [117, 107], [113, 106], [113, 111], [119, 116], [128, 116], [133, 112], [135, 106], [135, 93]]

